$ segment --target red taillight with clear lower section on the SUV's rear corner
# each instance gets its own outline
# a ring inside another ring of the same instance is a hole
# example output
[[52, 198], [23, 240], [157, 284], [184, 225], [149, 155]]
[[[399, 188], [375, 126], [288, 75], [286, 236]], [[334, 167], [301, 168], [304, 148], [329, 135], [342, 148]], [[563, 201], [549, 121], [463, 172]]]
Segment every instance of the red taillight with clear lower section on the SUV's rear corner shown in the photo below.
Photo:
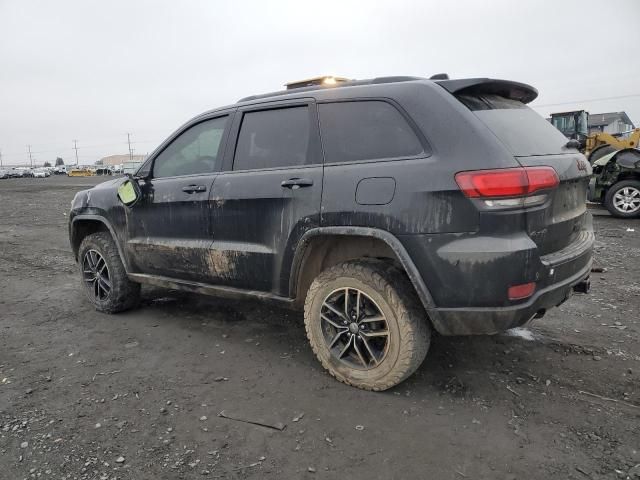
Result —
[[560, 184], [553, 167], [517, 167], [473, 170], [456, 174], [456, 183], [469, 198], [483, 199], [488, 207], [508, 208], [539, 205], [546, 195], [534, 195]]

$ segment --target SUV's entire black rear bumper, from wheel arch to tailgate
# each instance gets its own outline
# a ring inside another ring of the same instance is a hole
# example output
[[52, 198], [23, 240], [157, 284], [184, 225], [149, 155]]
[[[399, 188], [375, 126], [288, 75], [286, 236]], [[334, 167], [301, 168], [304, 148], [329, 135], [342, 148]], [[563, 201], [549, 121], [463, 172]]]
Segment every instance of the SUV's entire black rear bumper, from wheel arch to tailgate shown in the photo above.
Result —
[[[539, 255], [526, 233], [406, 239], [413, 258], [430, 261], [418, 266], [434, 300], [427, 312], [435, 330], [442, 335], [494, 334], [543, 316], [574, 290], [586, 293], [595, 237], [591, 215], [586, 212], [583, 218], [569, 245], [545, 255]], [[528, 282], [536, 283], [530, 298], [507, 299], [509, 286]]]

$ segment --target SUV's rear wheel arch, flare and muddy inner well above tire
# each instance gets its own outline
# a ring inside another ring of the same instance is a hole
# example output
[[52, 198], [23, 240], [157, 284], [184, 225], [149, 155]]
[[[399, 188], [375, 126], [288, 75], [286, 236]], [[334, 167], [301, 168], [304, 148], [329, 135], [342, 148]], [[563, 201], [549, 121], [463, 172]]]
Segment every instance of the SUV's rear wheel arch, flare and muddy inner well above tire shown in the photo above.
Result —
[[[336, 249], [340, 246], [340, 249]], [[296, 250], [291, 268], [289, 294], [295, 304], [304, 303], [313, 279], [324, 269], [362, 257], [389, 258], [407, 274], [433, 321], [435, 304], [420, 272], [406, 249], [392, 233], [369, 227], [320, 227], [307, 231]]]

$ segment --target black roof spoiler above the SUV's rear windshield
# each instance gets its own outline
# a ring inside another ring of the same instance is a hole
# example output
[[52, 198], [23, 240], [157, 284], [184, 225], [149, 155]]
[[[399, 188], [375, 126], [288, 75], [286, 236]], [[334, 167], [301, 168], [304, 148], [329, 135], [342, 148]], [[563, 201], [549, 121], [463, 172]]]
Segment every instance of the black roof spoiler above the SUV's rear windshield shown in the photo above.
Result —
[[438, 85], [453, 95], [500, 95], [501, 97], [529, 103], [538, 97], [538, 90], [526, 83], [492, 78], [466, 78], [461, 80], [436, 80]]

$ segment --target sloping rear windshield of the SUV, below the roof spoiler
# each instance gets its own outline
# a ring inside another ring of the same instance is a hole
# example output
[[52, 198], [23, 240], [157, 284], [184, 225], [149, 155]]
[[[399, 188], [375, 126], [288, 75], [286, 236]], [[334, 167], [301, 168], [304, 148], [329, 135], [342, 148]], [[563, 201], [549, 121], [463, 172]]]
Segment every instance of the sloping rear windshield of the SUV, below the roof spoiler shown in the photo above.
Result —
[[456, 98], [493, 132], [514, 156], [567, 153], [567, 138], [518, 100], [500, 95], [459, 94]]

